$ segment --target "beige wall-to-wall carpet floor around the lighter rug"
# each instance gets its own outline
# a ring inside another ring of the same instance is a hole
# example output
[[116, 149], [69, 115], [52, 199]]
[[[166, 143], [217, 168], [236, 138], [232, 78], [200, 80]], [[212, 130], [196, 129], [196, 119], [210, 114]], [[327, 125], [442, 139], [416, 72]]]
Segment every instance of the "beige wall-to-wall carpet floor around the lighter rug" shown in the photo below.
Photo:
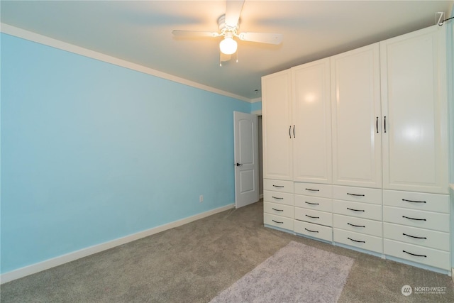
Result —
[[[454, 302], [448, 275], [263, 227], [262, 202], [5, 283], [0, 302], [207, 303], [291, 241], [355, 260], [338, 303]], [[406, 297], [404, 285], [446, 292]]]

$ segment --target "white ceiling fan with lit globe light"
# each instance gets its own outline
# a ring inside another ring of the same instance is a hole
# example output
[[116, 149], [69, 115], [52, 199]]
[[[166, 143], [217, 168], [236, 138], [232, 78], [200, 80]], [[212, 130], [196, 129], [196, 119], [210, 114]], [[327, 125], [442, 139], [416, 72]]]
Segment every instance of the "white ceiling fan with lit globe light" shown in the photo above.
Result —
[[[221, 62], [231, 59], [231, 55], [236, 53], [238, 43], [234, 38], [243, 41], [257, 43], [269, 43], [278, 45], [282, 42], [282, 34], [279, 33], [239, 33], [240, 14], [243, 10], [243, 1], [227, 0], [226, 13], [218, 18], [219, 32], [209, 31], [172, 31], [176, 37], [223, 37], [219, 43]], [[238, 62], [238, 55], [237, 55]], [[220, 64], [222, 65], [222, 64]]]

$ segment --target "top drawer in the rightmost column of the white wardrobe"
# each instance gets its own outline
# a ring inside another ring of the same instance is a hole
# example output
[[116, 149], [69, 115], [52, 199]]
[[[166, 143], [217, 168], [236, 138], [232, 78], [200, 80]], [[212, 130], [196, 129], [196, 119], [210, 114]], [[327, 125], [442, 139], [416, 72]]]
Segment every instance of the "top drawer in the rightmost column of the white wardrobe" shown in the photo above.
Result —
[[449, 213], [447, 194], [426, 194], [423, 192], [400, 192], [383, 190], [383, 205]]

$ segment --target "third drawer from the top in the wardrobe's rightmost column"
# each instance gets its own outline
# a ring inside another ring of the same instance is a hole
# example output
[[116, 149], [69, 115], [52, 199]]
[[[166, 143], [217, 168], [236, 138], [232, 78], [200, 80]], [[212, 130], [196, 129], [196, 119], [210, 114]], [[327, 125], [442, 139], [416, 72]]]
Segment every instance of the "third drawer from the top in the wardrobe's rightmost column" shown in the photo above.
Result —
[[384, 238], [428, 248], [450, 250], [449, 233], [443, 233], [442, 231], [430, 231], [423, 228], [384, 223], [383, 236]]

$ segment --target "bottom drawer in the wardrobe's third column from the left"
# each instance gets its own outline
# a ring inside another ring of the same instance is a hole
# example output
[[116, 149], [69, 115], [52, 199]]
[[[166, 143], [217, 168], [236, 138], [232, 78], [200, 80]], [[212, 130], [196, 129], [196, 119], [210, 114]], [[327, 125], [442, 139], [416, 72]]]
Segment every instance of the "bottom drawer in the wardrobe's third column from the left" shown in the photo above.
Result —
[[333, 228], [333, 240], [334, 242], [372, 250], [377, 253], [382, 253], [383, 251], [381, 237], [365, 235], [364, 233], [355, 233], [353, 231], [344, 231], [343, 229]]

